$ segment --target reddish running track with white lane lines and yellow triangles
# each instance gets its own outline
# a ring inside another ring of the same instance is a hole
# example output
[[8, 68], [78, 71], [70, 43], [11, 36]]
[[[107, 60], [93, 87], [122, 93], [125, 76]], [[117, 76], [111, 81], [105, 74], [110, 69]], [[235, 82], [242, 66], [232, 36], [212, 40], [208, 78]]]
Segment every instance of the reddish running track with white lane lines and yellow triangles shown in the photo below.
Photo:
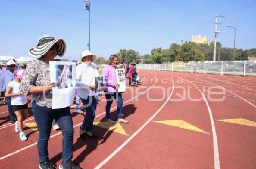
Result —
[[[105, 123], [105, 101], [93, 132], [79, 138], [84, 114], [71, 114], [73, 161], [82, 168], [256, 168], [256, 78], [141, 70], [138, 88], [123, 93], [129, 124]], [[29, 104], [31, 105], [31, 103]], [[116, 102], [111, 107], [116, 119]], [[0, 106], [0, 168], [38, 168], [36, 126], [20, 141]], [[109, 128], [111, 127], [111, 128]], [[60, 131], [51, 132], [50, 160], [61, 164]]]

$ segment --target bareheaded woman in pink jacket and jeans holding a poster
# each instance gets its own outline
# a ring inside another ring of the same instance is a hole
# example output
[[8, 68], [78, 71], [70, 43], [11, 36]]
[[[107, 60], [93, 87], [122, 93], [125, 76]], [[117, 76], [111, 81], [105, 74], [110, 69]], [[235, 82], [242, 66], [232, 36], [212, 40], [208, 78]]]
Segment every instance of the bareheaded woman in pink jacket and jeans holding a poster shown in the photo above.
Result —
[[115, 98], [117, 101], [117, 121], [119, 123], [129, 123], [129, 121], [124, 120], [122, 117], [122, 109], [123, 109], [123, 97], [122, 93], [118, 93], [119, 84], [117, 84], [117, 65], [119, 64], [119, 58], [117, 55], [111, 55], [108, 59], [108, 65], [103, 69], [103, 76], [105, 79], [106, 87], [104, 89], [105, 97], [106, 97], [106, 121], [108, 123], [115, 123], [110, 118], [110, 107], [112, 105], [113, 99]]

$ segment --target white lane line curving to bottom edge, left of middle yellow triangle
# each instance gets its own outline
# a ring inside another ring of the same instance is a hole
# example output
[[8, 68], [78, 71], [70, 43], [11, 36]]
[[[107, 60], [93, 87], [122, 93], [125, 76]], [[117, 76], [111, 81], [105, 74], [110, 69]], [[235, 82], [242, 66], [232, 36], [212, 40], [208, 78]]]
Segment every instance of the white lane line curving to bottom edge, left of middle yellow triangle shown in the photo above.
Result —
[[[171, 79], [172, 83], [173, 80]], [[145, 126], [162, 110], [162, 108], [166, 105], [166, 103], [169, 101], [170, 97], [172, 96], [174, 91], [174, 83], [173, 83], [173, 90], [170, 94], [170, 96], [167, 98], [167, 100], [164, 102], [164, 104], [158, 109], [158, 111], [153, 114], [148, 121], [146, 121], [133, 135], [131, 135], [130, 138], [128, 138], [123, 144], [121, 144], [114, 152], [112, 152], [105, 160], [103, 160], [100, 164], [98, 164], [95, 169], [101, 168], [103, 165], [105, 165], [112, 157], [114, 157], [126, 144], [128, 144]]]

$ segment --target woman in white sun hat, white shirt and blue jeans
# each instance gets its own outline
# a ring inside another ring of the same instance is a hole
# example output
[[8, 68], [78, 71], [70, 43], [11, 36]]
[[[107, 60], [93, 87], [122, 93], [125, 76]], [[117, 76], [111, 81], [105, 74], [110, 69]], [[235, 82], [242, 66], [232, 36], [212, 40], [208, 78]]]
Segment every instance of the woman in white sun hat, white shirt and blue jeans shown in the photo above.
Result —
[[85, 137], [96, 138], [92, 134], [92, 126], [95, 118], [97, 100], [95, 97], [95, 77], [99, 76], [97, 68], [92, 64], [96, 59], [96, 55], [89, 50], [83, 51], [79, 59], [82, 62], [76, 67], [76, 87], [77, 95], [83, 102], [86, 114], [82, 126], [80, 126], [80, 138]]

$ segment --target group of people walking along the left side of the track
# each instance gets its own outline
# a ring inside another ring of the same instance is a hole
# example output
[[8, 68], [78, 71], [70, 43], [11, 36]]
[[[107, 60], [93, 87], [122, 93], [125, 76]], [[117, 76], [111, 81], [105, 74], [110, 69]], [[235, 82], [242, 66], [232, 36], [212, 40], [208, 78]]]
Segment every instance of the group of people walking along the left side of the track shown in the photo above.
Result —
[[[55, 57], [63, 56], [66, 51], [66, 43], [63, 39], [55, 39], [52, 36], [42, 36], [35, 47], [29, 49], [29, 54], [39, 57], [32, 61], [26, 69], [18, 68], [14, 60], [6, 63], [6, 69], [0, 69], [1, 96], [5, 95], [8, 104], [8, 112], [11, 123], [15, 123], [15, 132], [19, 132], [20, 140], [27, 140], [27, 135], [23, 131], [23, 121], [28, 116], [27, 96], [31, 95], [32, 113], [39, 131], [38, 155], [40, 169], [54, 169], [55, 165], [50, 161], [48, 154], [48, 141], [52, 129], [60, 129], [63, 135], [62, 140], [62, 163], [59, 169], [79, 169], [72, 159], [73, 154], [73, 122], [70, 107], [52, 108], [52, 88], [55, 83], [50, 81], [50, 61], [58, 61]], [[97, 133], [93, 133], [93, 122], [96, 114], [96, 106], [99, 102], [95, 93], [95, 77], [99, 76], [97, 68], [92, 64], [96, 55], [86, 50], [83, 51], [77, 64], [76, 61], [76, 113], [83, 113], [79, 109], [79, 100], [83, 103], [86, 114], [79, 129], [80, 138], [97, 138]], [[129, 86], [134, 82], [138, 86], [138, 70], [135, 62], [121, 67], [117, 55], [111, 55], [108, 65], [103, 69], [104, 94], [106, 98], [106, 121], [111, 124], [129, 123], [123, 119], [122, 108], [123, 98], [119, 92], [116, 69], [125, 68], [126, 76], [129, 78]], [[5, 69], [5, 70], [4, 70]], [[117, 121], [111, 119], [110, 108], [113, 99], [117, 102]]]

